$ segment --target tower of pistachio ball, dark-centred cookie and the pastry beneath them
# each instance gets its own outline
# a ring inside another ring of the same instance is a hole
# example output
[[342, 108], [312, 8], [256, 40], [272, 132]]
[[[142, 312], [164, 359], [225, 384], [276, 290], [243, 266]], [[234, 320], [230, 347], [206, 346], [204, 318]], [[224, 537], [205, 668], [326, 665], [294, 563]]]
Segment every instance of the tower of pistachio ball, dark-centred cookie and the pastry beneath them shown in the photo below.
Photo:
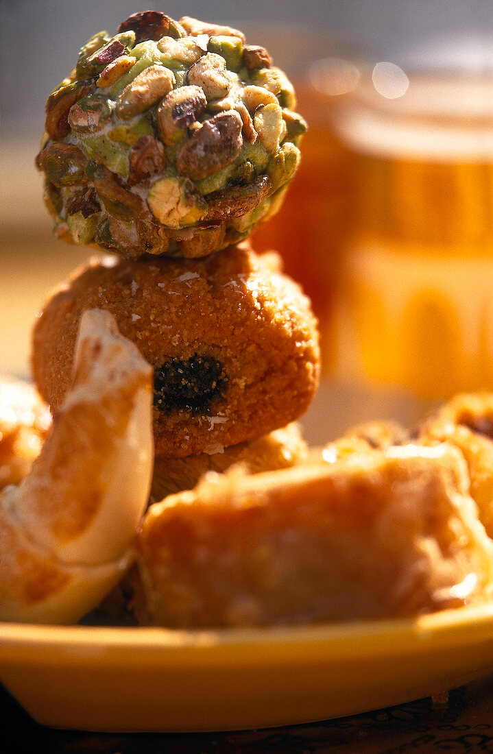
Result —
[[56, 410], [81, 314], [110, 311], [155, 369], [156, 498], [210, 467], [305, 453], [294, 426], [279, 430], [317, 387], [317, 323], [279, 256], [245, 241], [299, 163], [294, 106], [241, 32], [155, 11], [91, 38], [47, 101], [37, 164], [57, 235], [114, 254], [45, 305], [35, 383]]

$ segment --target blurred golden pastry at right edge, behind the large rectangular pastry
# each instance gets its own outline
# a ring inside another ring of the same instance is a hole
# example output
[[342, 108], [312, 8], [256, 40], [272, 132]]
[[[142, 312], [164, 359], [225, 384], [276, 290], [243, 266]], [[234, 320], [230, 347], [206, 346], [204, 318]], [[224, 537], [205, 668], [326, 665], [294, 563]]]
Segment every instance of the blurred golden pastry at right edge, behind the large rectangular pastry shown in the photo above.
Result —
[[464, 454], [470, 494], [479, 517], [493, 538], [493, 393], [458, 394], [423, 422], [421, 443], [446, 440]]

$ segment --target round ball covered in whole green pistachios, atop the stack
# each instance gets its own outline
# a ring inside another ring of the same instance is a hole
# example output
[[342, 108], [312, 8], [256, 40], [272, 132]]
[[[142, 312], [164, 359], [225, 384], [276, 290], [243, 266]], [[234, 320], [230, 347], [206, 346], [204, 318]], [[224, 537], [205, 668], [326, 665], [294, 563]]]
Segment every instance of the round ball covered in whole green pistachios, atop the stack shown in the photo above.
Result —
[[274, 213], [306, 124], [268, 52], [159, 11], [84, 44], [47, 100], [36, 164], [60, 238], [198, 257]]

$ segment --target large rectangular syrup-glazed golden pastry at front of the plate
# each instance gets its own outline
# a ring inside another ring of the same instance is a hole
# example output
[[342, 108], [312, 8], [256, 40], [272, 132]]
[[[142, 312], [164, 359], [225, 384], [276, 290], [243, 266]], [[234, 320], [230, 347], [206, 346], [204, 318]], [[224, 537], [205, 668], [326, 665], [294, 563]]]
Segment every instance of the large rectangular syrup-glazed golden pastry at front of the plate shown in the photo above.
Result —
[[242, 627], [411, 616], [490, 597], [493, 544], [446, 443], [248, 476], [152, 505], [142, 623]]

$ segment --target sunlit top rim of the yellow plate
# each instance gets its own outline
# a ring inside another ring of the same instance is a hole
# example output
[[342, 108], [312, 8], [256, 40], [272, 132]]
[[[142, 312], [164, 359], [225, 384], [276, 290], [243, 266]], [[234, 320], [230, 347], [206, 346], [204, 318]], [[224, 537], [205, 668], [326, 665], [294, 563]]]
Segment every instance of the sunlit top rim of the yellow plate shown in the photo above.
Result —
[[[161, 648], [162, 650], [207, 651], [217, 648], [255, 645], [296, 645], [300, 642], [318, 645], [341, 645], [360, 642], [375, 642], [385, 636], [393, 637], [393, 643], [414, 643], [462, 637], [464, 627], [476, 631], [468, 637], [479, 640], [486, 630], [493, 627], [493, 601], [479, 605], [464, 605], [411, 618], [383, 618], [366, 621], [341, 621], [320, 624], [293, 624], [286, 626], [174, 629], [165, 627], [114, 627], [114, 626], [60, 626], [52, 624], [20, 624], [0, 621], [0, 660], [16, 648], [56, 648], [71, 645], [72, 648], [115, 645], [133, 650]], [[493, 631], [491, 632], [493, 641]], [[383, 647], [385, 653], [388, 645]]]

